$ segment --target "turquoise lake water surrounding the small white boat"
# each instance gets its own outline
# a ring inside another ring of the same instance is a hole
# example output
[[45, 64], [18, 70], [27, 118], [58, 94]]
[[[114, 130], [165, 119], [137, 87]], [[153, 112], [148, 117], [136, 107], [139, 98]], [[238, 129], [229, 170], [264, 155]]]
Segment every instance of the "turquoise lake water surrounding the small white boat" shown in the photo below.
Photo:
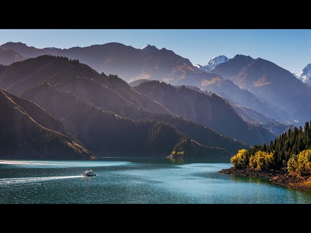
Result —
[[[0, 160], [0, 203], [311, 203], [311, 192], [162, 159]], [[81, 177], [92, 168], [98, 176]]]

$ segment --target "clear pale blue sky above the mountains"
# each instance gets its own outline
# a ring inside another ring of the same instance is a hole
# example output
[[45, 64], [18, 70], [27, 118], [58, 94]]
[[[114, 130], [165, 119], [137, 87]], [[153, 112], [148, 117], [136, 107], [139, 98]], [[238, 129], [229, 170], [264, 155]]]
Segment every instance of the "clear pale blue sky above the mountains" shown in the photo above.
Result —
[[261, 57], [297, 73], [311, 63], [311, 30], [0, 30], [0, 44], [45, 48], [120, 42], [135, 48], [166, 48], [205, 65], [213, 56]]

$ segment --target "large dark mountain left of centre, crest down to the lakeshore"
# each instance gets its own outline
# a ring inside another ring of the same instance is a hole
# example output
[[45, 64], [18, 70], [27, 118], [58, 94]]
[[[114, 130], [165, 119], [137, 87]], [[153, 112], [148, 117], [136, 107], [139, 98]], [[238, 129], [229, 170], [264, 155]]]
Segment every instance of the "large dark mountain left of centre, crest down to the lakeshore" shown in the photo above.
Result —
[[177, 117], [116, 75], [99, 74], [76, 60], [44, 55], [14, 63], [3, 70], [0, 86], [46, 109], [96, 156], [167, 156], [184, 150], [187, 156], [228, 159], [247, 148]]

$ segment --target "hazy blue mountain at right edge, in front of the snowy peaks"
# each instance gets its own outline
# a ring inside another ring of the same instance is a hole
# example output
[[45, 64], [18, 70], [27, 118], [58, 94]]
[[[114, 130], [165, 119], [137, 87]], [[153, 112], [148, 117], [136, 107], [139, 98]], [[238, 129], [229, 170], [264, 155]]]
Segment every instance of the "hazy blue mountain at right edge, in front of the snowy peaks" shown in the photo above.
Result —
[[285, 110], [296, 124], [310, 120], [311, 87], [270, 61], [236, 55], [211, 72]]

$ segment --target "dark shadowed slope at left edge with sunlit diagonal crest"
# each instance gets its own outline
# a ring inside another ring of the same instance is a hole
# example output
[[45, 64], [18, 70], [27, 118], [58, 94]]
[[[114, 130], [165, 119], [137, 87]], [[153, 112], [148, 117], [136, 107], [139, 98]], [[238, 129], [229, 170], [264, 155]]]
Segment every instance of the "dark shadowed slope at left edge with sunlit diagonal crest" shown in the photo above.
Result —
[[94, 156], [70, 137], [61, 122], [29, 100], [0, 88], [0, 157], [91, 159]]

